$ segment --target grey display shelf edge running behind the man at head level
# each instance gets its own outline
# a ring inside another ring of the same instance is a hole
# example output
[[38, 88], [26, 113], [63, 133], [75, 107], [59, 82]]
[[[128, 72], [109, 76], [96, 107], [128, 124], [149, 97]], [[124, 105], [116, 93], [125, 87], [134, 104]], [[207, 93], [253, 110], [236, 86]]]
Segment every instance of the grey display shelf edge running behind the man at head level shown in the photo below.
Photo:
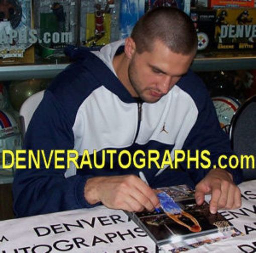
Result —
[[[0, 66], [0, 81], [30, 78], [53, 78], [69, 63]], [[256, 68], [254, 53], [198, 54], [191, 68], [194, 71], [217, 71]]]

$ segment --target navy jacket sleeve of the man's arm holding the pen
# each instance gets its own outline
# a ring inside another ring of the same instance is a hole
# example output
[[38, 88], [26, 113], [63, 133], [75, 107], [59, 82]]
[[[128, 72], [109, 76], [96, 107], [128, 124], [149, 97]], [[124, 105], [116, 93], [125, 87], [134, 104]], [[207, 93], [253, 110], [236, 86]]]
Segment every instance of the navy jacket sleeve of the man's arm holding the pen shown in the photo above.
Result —
[[[53, 93], [45, 91], [44, 98], [36, 109], [24, 141], [26, 168], [16, 170], [13, 182], [14, 211], [17, 216], [28, 216], [81, 207], [91, 207], [85, 200], [84, 186], [91, 175], [65, 177], [66, 155], [63, 161], [55, 162], [51, 150], [74, 148], [72, 120]], [[28, 150], [37, 154], [43, 150], [46, 161], [51, 157], [49, 168], [40, 153], [40, 168], [33, 162], [29, 168]], [[64, 169], [56, 168], [64, 165]]]

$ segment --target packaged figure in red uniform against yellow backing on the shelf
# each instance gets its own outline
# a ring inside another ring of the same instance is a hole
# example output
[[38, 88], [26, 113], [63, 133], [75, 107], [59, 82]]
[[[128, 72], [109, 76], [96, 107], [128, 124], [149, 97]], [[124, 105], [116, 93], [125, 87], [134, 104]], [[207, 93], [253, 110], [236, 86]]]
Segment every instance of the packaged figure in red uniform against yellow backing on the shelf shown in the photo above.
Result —
[[81, 44], [100, 46], [118, 40], [119, 8], [117, 0], [81, 0]]

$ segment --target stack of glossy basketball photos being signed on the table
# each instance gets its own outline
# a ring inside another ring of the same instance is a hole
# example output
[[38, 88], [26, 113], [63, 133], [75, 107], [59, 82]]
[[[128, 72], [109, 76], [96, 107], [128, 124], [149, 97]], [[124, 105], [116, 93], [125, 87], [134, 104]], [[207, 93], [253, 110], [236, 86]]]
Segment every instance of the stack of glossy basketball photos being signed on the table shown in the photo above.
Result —
[[[155, 210], [125, 213], [147, 232], [157, 246], [177, 246], [178, 242], [199, 237], [202, 239], [206, 235], [209, 235], [208, 239], [213, 240], [217, 233], [228, 232], [227, 236], [234, 233], [231, 223], [220, 213], [210, 213], [207, 202], [196, 204], [195, 191], [189, 186], [182, 184], [161, 187], [154, 191], [161, 203], [159, 212]], [[189, 247], [187, 244], [186, 246]]]

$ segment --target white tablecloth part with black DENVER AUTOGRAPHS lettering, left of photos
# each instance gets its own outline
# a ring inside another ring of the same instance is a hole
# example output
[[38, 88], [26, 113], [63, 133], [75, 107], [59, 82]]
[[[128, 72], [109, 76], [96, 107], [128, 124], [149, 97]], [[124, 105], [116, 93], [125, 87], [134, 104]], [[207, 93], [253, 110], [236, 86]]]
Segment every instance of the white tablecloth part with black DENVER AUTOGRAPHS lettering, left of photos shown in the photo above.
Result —
[[155, 252], [121, 210], [103, 206], [0, 222], [1, 253]]

